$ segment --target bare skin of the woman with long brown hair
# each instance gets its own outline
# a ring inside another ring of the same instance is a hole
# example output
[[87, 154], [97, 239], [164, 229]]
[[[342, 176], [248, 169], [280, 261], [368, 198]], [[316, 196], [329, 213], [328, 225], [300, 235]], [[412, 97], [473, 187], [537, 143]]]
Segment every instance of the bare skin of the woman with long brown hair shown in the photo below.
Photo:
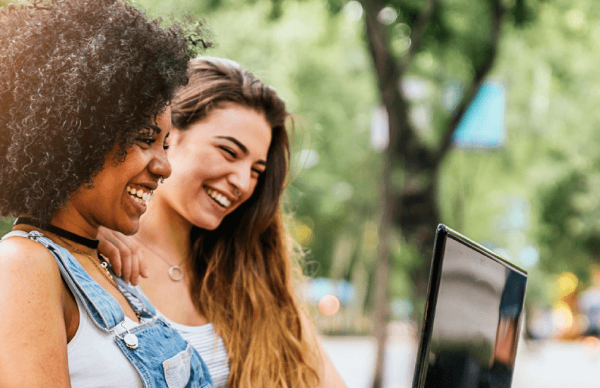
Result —
[[[140, 231], [122, 238], [103, 230], [99, 249], [109, 257], [116, 274], [132, 284], [139, 282], [152, 304], [170, 320], [205, 325], [208, 320], [194, 307], [190, 277], [185, 274], [190, 264], [186, 260], [191, 257], [189, 232], [193, 225], [216, 229], [251, 197], [265, 170], [271, 128], [262, 113], [230, 104], [186, 131], [174, 128], [170, 140], [173, 174], [156, 190]], [[207, 189], [224, 195], [229, 206], [215, 202]], [[184, 269], [181, 281], [169, 278], [173, 265]], [[304, 324], [310, 325], [308, 320]], [[320, 341], [318, 346], [322, 386], [345, 387]]]

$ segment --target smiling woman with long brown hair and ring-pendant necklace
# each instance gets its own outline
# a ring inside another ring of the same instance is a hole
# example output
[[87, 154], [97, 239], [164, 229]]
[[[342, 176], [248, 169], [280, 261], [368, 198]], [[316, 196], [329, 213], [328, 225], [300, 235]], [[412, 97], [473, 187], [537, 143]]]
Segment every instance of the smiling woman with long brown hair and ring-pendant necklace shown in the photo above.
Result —
[[189, 74], [172, 104], [172, 176], [138, 234], [103, 234], [100, 249], [196, 346], [215, 387], [344, 387], [294, 293], [285, 104], [234, 61], [200, 57]]

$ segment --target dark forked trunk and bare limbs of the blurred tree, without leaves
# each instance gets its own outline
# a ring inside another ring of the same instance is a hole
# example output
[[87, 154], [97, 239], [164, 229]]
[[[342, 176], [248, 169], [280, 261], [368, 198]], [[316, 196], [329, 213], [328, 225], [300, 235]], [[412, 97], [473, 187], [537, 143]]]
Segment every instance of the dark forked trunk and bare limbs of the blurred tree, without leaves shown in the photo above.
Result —
[[[414, 282], [416, 298], [426, 296], [428, 274], [431, 267], [431, 253], [435, 240], [437, 225], [440, 223], [438, 206], [438, 171], [440, 165], [452, 146], [452, 134], [464, 116], [467, 107], [474, 99], [484, 78], [491, 70], [496, 59], [500, 38], [500, 25], [503, 17], [503, 6], [500, 0], [487, 0], [491, 10], [491, 28], [488, 49], [484, 58], [478, 58], [472, 83], [467, 85], [464, 95], [443, 131], [438, 150], [431, 150], [421, 143], [419, 136], [409, 120], [409, 102], [404, 98], [400, 87], [404, 73], [410, 61], [419, 49], [427, 25], [431, 20], [438, 0], [430, 0], [424, 5], [409, 50], [408, 59], [404, 63], [390, 53], [389, 38], [385, 28], [378, 23], [379, 11], [385, 6], [381, 0], [361, 0], [364, 7], [366, 24], [366, 40], [368, 50], [373, 59], [380, 98], [388, 111], [388, 128], [390, 143], [385, 152], [385, 168], [383, 171], [383, 214], [379, 229], [380, 247], [375, 268], [374, 279], [374, 328], [377, 339], [376, 372], [373, 388], [383, 387], [383, 365], [385, 340], [388, 326], [388, 277], [390, 272], [390, 252], [388, 246], [392, 225], [398, 226], [404, 240], [414, 244], [421, 258], [421, 265], [411, 274]], [[402, 187], [392, 184], [393, 171], [403, 171]]]

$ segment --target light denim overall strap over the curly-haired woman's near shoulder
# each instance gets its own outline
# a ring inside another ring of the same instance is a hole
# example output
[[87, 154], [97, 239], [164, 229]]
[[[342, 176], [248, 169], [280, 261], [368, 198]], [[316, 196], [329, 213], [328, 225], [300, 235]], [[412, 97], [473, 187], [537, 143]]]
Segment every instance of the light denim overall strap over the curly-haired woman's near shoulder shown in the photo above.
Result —
[[47, 247], [59, 265], [64, 281], [78, 294], [88, 315], [97, 327], [108, 332], [124, 321], [125, 315], [121, 305], [105, 291], [100, 284], [90, 277], [79, 262], [68, 250], [44, 237], [39, 231], [13, 231], [3, 238], [10, 236], [28, 237]]

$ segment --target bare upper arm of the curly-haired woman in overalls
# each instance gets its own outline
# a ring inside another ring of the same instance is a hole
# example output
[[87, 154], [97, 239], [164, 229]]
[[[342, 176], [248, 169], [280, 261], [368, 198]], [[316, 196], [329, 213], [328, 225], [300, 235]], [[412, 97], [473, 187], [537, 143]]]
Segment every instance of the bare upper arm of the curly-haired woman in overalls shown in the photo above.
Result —
[[65, 293], [54, 257], [40, 243], [0, 243], [0, 387], [71, 387]]

